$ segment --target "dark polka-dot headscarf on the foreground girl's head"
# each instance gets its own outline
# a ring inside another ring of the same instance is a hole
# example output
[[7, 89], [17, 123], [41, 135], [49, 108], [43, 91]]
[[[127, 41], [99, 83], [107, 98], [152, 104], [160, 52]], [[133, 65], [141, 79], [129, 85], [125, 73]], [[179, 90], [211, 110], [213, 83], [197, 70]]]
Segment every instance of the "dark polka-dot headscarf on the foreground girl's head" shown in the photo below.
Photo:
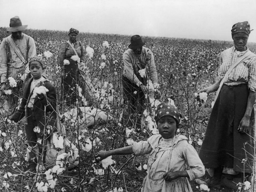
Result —
[[168, 105], [167, 103], [160, 103], [157, 106], [157, 110], [155, 111], [155, 122], [157, 123], [159, 119], [164, 116], [171, 116], [175, 119], [175, 121], [179, 124], [181, 119], [181, 113], [177, 109], [177, 107], [173, 105]]

